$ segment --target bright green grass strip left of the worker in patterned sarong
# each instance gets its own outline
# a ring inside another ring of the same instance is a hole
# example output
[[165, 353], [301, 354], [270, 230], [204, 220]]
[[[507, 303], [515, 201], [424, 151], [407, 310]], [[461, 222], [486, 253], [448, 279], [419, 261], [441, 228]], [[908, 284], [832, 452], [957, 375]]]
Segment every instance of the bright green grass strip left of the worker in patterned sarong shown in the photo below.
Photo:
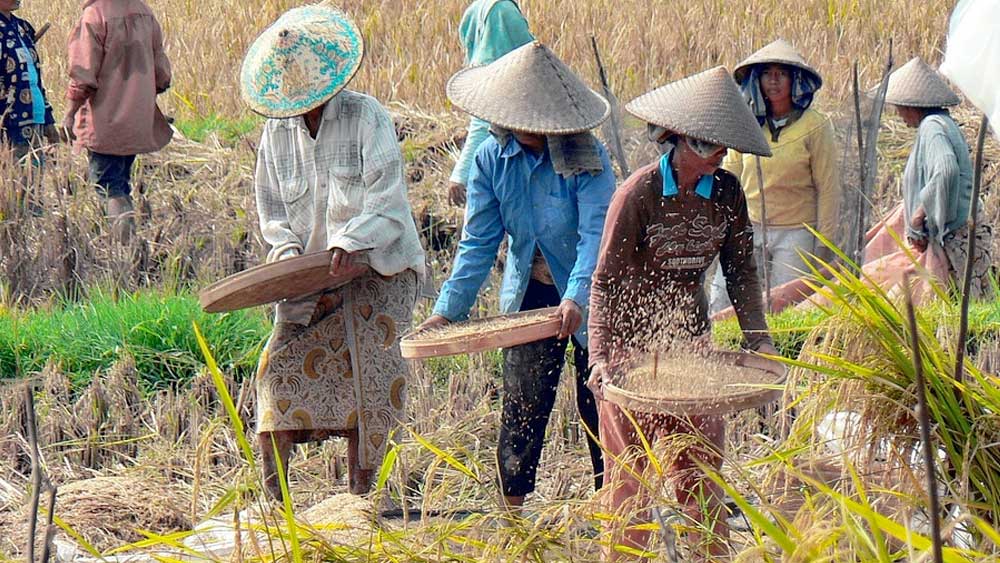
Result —
[[204, 366], [192, 322], [214, 344], [221, 369], [236, 379], [253, 373], [270, 330], [261, 310], [212, 315], [192, 296], [148, 291], [115, 299], [93, 291], [82, 302], [25, 313], [0, 310], [0, 377], [55, 362], [80, 387], [127, 355], [145, 391], [186, 382]]

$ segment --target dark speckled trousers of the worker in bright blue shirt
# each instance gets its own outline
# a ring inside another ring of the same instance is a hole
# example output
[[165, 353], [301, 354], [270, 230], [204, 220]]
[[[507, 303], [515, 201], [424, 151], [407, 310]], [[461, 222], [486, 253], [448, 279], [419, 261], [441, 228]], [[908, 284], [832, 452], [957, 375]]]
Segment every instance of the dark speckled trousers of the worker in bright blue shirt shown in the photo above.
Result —
[[[559, 305], [555, 286], [532, 280], [521, 310]], [[556, 400], [556, 389], [566, 358], [567, 340], [549, 338], [503, 351], [503, 415], [497, 465], [504, 496], [524, 496], [535, 490], [535, 474], [545, 441], [545, 427]], [[580, 419], [597, 435], [597, 405], [587, 388], [590, 376], [587, 349], [573, 338], [576, 405]], [[594, 487], [601, 488], [604, 460], [600, 446], [587, 436]]]

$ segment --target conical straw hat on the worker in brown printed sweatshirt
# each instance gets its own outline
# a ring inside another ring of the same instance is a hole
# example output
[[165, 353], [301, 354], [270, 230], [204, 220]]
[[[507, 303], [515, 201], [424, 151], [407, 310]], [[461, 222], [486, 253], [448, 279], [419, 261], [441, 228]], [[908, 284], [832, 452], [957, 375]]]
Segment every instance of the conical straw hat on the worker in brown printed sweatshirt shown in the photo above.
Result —
[[760, 124], [725, 67], [717, 66], [626, 104], [639, 119], [742, 153], [771, 156]]

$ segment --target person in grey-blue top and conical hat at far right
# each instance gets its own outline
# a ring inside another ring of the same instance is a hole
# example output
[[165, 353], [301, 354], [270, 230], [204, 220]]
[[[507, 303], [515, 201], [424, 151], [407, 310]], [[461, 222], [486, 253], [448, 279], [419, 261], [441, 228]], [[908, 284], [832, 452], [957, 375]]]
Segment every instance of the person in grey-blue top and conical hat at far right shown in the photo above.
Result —
[[[934, 69], [915, 57], [889, 77], [885, 101], [896, 107], [908, 127], [917, 130], [903, 172], [906, 238], [919, 252], [930, 245], [943, 248], [951, 280], [961, 287], [968, 260], [973, 168], [969, 146], [947, 109], [960, 100]], [[973, 260], [974, 297], [991, 293], [992, 239], [991, 226], [980, 218]]]

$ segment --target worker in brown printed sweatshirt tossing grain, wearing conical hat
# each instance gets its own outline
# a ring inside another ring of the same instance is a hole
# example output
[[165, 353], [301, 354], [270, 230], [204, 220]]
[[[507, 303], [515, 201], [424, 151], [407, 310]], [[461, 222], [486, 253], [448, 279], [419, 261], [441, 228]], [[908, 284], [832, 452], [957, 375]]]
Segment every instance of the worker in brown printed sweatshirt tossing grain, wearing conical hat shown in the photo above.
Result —
[[[736, 304], [745, 347], [776, 353], [764, 319], [746, 199], [739, 179], [719, 168], [726, 147], [770, 154], [736, 84], [725, 68], [716, 67], [653, 90], [626, 109], [647, 122], [663, 155], [615, 192], [590, 297], [588, 385], [600, 405], [601, 443], [617, 459], [635, 453], [640, 439], [622, 409], [603, 400], [603, 385], [649, 352], [677, 342], [703, 343], [710, 328], [705, 272], [716, 257]], [[669, 352], [660, 357], [660, 362], [669, 361]], [[725, 537], [722, 493], [697, 469], [698, 462], [721, 467], [723, 419], [636, 414], [636, 421], [650, 440], [686, 434], [702, 438], [703, 444], [678, 454], [667, 477], [688, 516], [707, 520]], [[640, 455], [633, 468], [641, 475], [647, 464]], [[606, 474], [612, 512], [627, 519], [647, 507], [647, 491], [622, 464], [609, 460]], [[615, 543], [624, 541], [636, 549], [644, 549], [649, 538], [648, 531], [621, 527], [614, 535]], [[712, 553], [725, 548], [713, 545]], [[622, 557], [614, 550], [607, 555]]]

